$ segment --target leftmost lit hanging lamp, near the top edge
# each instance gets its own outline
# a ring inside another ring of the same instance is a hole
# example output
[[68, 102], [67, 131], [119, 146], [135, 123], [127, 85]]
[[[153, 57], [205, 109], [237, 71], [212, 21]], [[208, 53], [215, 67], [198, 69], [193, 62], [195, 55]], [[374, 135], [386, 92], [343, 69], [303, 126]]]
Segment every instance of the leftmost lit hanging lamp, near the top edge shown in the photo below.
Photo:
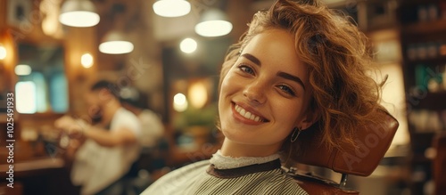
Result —
[[67, 0], [62, 4], [59, 21], [71, 27], [92, 27], [99, 23], [99, 15], [89, 0]]

